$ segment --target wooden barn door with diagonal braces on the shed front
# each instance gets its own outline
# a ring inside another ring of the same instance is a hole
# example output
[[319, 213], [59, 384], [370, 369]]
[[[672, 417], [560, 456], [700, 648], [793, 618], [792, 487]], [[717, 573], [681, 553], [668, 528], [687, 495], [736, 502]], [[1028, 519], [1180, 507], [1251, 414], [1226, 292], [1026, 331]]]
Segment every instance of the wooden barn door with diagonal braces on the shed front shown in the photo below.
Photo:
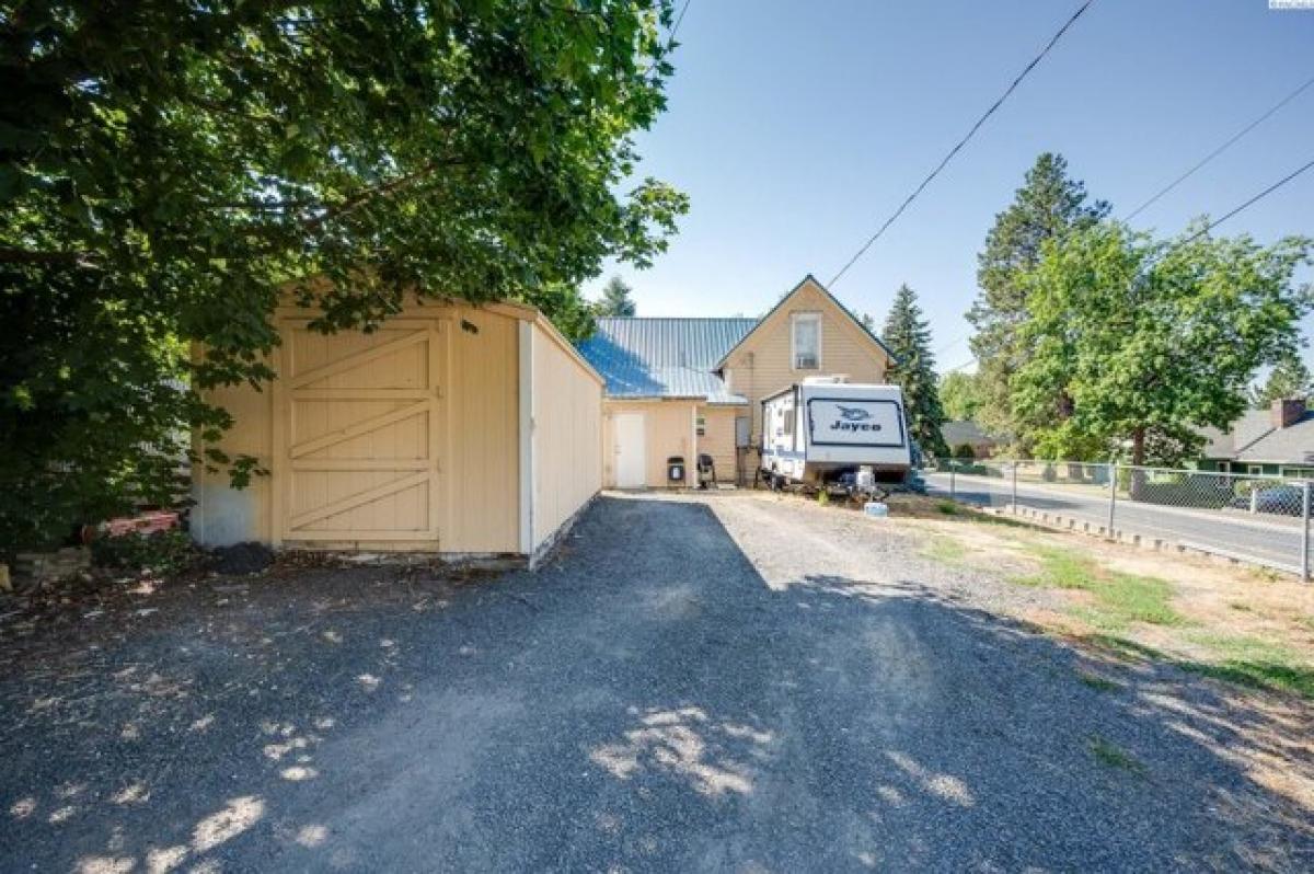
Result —
[[438, 549], [445, 342], [436, 319], [327, 335], [284, 322], [281, 540]]

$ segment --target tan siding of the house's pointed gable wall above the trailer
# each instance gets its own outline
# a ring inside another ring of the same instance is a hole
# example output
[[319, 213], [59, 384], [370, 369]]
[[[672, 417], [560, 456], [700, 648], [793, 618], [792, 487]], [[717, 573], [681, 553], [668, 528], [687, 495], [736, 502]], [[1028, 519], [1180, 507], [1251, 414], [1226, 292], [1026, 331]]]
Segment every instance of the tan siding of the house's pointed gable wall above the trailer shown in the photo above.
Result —
[[[821, 314], [821, 361], [815, 371], [794, 368], [791, 317]], [[800, 285], [744, 343], [724, 368], [731, 390], [749, 400], [752, 443], [762, 434], [761, 400], [809, 376], [848, 375], [854, 382], [884, 382], [886, 352], [813, 283]]]

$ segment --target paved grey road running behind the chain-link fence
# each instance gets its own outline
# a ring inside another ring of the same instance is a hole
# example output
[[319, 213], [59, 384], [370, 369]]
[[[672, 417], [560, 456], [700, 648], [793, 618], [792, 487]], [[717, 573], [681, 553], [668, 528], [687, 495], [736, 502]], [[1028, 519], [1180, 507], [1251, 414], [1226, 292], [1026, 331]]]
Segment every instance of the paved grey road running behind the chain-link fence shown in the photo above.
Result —
[[[949, 494], [947, 473], [932, 473], [925, 478], [930, 494]], [[984, 506], [1009, 506], [1012, 502], [1012, 485], [996, 477], [955, 474], [954, 492], [959, 499]], [[1109, 522], [1109, 498], [1099, 488], [1047, 488], [1020, 482], [1017, 497], [1024, 507], [1099, 526]], [[1114, 527], [1129, 534], [1251, 557], [1260, 564], [1300, 568], [1300, 527], [1286, 519], [1236, 519], [1222, 511], [1163, 507], [1120, 498]]]

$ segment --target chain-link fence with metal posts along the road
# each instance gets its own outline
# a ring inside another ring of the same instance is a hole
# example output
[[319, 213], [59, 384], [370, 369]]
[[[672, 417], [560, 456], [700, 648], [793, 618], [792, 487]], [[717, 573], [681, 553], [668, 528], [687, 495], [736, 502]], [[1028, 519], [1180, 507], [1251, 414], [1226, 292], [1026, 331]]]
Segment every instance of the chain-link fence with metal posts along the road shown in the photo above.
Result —
[[1314, 482], [1085, 461], [943, 460], [933, 494], [1039, 515], [1112, 539], [1158, 541], [1301, 574], [1311, 573]]

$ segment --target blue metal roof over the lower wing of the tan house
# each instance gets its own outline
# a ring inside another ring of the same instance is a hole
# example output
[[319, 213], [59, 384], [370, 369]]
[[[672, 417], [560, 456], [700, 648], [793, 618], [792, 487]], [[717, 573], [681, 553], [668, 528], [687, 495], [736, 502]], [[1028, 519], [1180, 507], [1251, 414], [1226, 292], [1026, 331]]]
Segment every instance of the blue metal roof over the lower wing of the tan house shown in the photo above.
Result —
[[756, 318], [599, 318], [579, 354], [607, 381], [610, 397], [704, 398], [746, 403], [712, 368], [753, 327]]

